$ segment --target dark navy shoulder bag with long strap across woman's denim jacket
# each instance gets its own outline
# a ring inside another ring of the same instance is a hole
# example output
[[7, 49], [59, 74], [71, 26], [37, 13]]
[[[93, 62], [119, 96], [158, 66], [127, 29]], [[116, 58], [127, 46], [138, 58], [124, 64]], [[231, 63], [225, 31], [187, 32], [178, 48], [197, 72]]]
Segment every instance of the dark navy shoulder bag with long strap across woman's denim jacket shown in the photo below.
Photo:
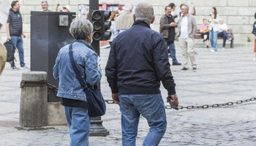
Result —
[[[91, 49], [91, 46], [87, 46], [87, 47]], [[94, 117], [105, 115], [106, 105], [105, 105], [105, 101], [103, 99], [102, 93], [99, 90], [98, 85], [94, 85], [93, 87], [89, 88], [89, 85], [86, 85], [86, 82], [84, 82], [80, 72], [78, 71], [77, 66], [75, 65], [73, 51], [72, 51], [72, 44], [69, 45], [69, 59], [72, 64], [72, 68], [75, 72], [75, 77], [78, 79], [78, 81], [80, 82], [80, 85], [83, 88], [83, 91], [86, 93], [89, 116], [91, 118], [94, 118]]]

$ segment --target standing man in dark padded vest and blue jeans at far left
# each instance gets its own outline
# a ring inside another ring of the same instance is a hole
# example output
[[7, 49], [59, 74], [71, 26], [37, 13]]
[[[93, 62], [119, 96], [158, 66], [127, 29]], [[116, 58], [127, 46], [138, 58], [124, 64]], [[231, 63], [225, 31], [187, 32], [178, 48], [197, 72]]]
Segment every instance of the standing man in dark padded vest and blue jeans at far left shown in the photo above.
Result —
[[[12, 8], [10, 9], [8, 20], [7, 20], [7, 39], [11, 40], [14, 47], [18, 49], [20, 58], [20, 68], [29, 69], [24, 62], [24, 49], [23, 49], [23, 38], [26, 35], [23, 33], [23, 23], [22, 16], [20, 14], [20, 3], [18, 1], [12, 1]], [[21, 37], [22, 36], [22, 37]], [[19, 68], [15, 66], [15, 62], [12, 61], [11, 68], [18, 70]]]

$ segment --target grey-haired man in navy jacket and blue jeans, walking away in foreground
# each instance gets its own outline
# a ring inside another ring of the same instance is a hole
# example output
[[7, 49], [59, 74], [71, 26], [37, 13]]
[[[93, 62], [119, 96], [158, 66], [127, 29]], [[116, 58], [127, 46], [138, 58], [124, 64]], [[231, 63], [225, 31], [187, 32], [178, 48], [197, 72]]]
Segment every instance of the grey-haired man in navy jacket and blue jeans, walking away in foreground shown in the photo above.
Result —
[[122, 145], [135, 146], [140, 114], [150, 127], [143, 145], [159, 145], [167, 126], [160, 81], [173, 105], [178, 106], [176, 84], [170, 72], [165, 39], [150, 28], [155, 18], [153, 7], [148, 3], [138, 4], [133, 18], [132, 27], [113, 39], [106, 77], [113, 101], [120, 104]]

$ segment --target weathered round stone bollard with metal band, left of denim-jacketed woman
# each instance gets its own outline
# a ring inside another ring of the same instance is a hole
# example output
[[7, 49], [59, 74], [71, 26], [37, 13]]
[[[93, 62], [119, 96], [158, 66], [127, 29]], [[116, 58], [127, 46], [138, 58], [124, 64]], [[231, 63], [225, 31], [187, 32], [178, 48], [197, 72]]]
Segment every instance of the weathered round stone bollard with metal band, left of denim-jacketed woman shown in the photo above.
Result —
[[20, 82], [19, 130], [44, 130], [48, 128], [48, 85], [46, 72], [23, 72]]

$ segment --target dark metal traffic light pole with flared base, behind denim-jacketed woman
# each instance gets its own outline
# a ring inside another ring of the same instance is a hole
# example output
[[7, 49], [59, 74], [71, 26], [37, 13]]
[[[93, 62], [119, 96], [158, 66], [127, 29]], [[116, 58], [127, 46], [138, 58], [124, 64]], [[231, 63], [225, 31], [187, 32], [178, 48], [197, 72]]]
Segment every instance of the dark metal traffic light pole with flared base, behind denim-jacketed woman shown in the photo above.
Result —
[[[99, 9], [99, 0], [90, 0], [89, 1], [90, 20], [91, 20], [92, 10], [97, 10], [97, 9]], [[91, 47], [93, 47], [96, 53], [99, 55], [99, 41], [93, 40], [93, 42], [91, 42]], [[102, 122], [103, 120], [101, 117], [91, 118], [90, 136], [105, 137], [109, 135], [109, 131], [104, 126], [102, 126]]]

